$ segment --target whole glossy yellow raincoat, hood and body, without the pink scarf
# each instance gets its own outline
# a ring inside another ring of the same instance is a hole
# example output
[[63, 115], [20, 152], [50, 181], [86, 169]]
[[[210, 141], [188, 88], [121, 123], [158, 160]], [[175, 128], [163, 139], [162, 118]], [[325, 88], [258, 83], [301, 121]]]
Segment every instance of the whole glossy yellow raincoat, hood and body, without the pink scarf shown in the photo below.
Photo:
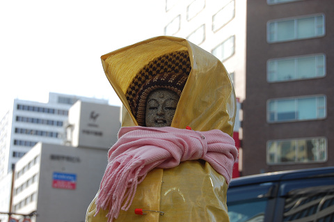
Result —
[[[191, 72], [171, 127], [221, 129], [232, 136], [236, 100], [228, 72], [212, 54], [188, 40], [170, 36], [151, 38], [101, 57], [106, 77], [123, 103], [122, 127], [138, 125], [125, 97], [136, 73], [154, 58], [179, 50], [189, 52]], [[227, 189], [225, 178], [202, 160], [184, 161], [170, 169], [155, 168], [138, 184], [129, 210], [121, 210], [113, 221], [229, 221]], [[95, 199], [88, 207], [86, 221], [106, 221], [104, 210], [94, 216]], [[137, 215], [136, 208], [161, 211], [164, 215]]]

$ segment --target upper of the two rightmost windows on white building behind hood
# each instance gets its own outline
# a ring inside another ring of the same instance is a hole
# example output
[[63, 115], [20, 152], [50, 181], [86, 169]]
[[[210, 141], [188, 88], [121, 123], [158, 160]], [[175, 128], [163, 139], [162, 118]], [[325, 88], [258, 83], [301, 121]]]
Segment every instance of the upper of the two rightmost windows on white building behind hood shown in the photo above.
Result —
[[217, 31], [234, 18], [234, 0], [227, 3], [218, 13], [212, 16], [212, 31]]

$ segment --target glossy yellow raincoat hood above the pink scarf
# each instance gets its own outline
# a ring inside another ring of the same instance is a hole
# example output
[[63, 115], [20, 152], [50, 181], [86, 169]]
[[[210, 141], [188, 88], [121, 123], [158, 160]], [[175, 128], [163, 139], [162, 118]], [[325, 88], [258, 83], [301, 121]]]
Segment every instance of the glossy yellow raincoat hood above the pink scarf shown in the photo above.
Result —
[[[224, 65], [215, 56], [183, 38], [159, 36], [101, 56], [106, 77], [123, 104], [122, 127], [138, 125], [125, 93], [136, 74], [154, 58], [187, 50], [191, 72], [182, 91], [172, 127], [233, 134], [236, 100]], [[125, 109], [124, 109], [125, 108]]]

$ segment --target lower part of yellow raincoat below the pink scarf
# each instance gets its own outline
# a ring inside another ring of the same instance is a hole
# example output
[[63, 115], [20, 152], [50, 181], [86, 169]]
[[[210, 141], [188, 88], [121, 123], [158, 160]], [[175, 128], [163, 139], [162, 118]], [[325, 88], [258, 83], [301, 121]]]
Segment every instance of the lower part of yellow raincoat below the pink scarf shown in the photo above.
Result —
[[[114, 221], [229, 221], [227, 189], [225, 178], [205, 161], [184, 161], [172, 169], [156, 168], [138, 185], [129, 210], [120, 211]], [[88, 207], [86, 221], [106, 221], [107, 211], [93, 216], [94, 201]], [[136, 215], [136, 208], [163, 211], [164, 216], [156, 212]]]

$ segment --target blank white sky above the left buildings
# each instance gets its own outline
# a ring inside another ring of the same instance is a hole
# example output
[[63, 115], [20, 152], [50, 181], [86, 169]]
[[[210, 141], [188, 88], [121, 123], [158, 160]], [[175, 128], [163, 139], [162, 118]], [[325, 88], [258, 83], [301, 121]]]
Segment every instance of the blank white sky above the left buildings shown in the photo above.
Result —
[[164, 34], [164, 0], [1, 0], [0, 118], [49, 92], [120, 100], [100, 56]]

